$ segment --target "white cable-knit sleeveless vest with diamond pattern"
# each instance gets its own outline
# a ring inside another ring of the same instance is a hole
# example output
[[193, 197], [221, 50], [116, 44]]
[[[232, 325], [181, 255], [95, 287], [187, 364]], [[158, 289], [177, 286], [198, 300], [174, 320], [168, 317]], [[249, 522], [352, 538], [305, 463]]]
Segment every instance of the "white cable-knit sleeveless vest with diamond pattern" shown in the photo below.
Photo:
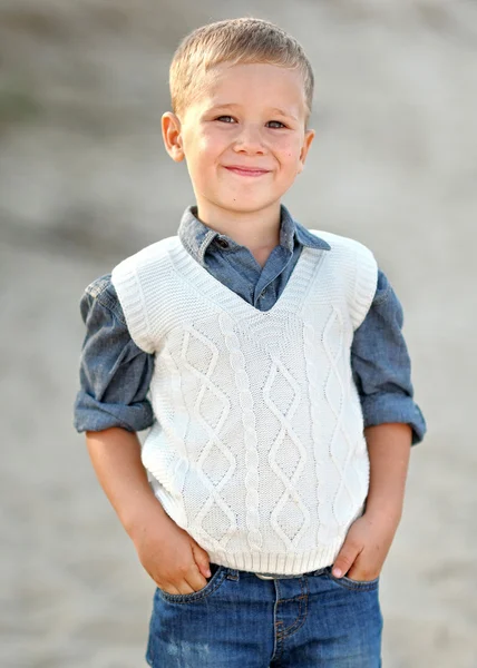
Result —
[[[312, 230], [314, 232], [314, 230]], [[275, 305], [251, 306], [177, 236], [113, 271], [135, 343], [155, 354], [143, 463], [214, 563], [298, 574], [333, 562], [362, 513], [369, 459], [350, 348], [378, 267], [314, 234]]]

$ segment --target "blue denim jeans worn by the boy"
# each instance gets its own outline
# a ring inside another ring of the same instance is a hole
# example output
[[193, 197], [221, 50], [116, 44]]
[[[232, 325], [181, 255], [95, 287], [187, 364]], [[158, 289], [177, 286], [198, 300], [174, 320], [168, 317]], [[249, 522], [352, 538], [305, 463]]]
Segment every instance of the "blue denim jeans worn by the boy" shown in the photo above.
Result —
[[199, 591], [156, 589], [146, 659], [153, 668], [379, 668], [378, 581], [331, 567], [272, 580], [211, 564]]

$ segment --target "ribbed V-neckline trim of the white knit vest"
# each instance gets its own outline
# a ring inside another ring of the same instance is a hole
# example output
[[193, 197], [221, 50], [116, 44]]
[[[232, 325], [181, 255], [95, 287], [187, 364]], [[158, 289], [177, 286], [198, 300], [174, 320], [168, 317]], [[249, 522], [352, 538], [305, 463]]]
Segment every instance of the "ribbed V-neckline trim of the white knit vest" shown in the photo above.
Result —
[[[193, 284], [195, 286], [196, 289], [198, 289], [198, 292], [201, 294], [204, 294], [201, 291], [201, 287], [206, 287], [206, 285], [208, 284], [211, 286], [211, 288], [215, 287], [215, 291], [207, 291], [207, 297], [212, 298], [214, 302], [216, 301], [214, 298], [214, 292], [215, 294], [217, 292], [221, 292], [224, 294], [224, 296], [227, 298], [226, 301], [228, 302], [228, 305], [233, 308], [234, 312], [241, 312], [241, 313], [253, 313], [256, 316], [262, 316], [262, 317], [270, 317], [272, 314], [274, 314], [276, 311], [282, 311], [283, 306], [290, 302], [289, 295], [292, 291], [292, 288], [294, 287], [295, 283], [298, 283], [301, 278], [301, 276], [306, 276], [311, 278], [312, 276], [314, 276], [315, 272], [318, 271], [319, 266], [321, 265], [321, 262], [323, 259], [324, 253], [322, 252], [320, 255], [321, 257], [317, 261], [313, 262], [313, 250], [317, 250], [315, 248], [308, 248], [306, 246], [302, 248], [302, 252], [300, 254], [300, 257], [296, 261], [295, 266], [293, 267], [293, 271], [290, 275], [290, 278], [285, 285], [285, 287], [282, 291], [282, 294], [280, 295], [280, 297], [276, 299], [276, 302], [273, 304], [273, 306], [271, 308], [269, 308], [267, 311], [261, 311], [260, 308], [256, 308], [256, 306], [254, 306], [253, 304], [250, 304], [246, 299], [244, 299], [243, 297], [241, 297], [237, 293], [235, 293], [233, 289], [231, 289], [227, 285], [225, 285], [224, 283], [222, 283], [221, 281], [218, 281], [218, 278], [216, 278], [215, 276], [213, 276], [203, 265], [201, 265], [196, 259], [194, 259], [191, 254], [186, 250], [186, 248], [184, 248], [182, 242], [179, 239], [178, 244], [176, 246], [176, 250], [179, 252], [181, 256], [182, 256], [182, 261], [188, 265], [188, 268], [191, 271], [191, 274], [195, 274], [195, 276], [191, 276], [191, 278], [193, 279]], [[319, 249], [318, 249], [319, 250]], [[181, 263], [183, 264], [183, 263]], [[183, 265], [184, 268], [184, 265]], [[308, 272], [306, 272], [308, 269]], [[202, 276], [202, 281], [199, 282], [199, 284], [197, 285], [197, 281], [194, 281], [197, 277], [197, 272], [201, 274]], [[183, 272], [181, 272], [181, 274], [184, 276]], [[311, 281], [304, 281], [305, 284], [305, 289], [302, 291], [302, 294], [300, 295], [300, 299], [296, 299], [295, 302], [292, 302], [292, 308], [291, 311], [298, 311], [306, 292], [308, 292], [308, 287], [311, 284]], [[290, 311], [290, 308], [289, 308]]]

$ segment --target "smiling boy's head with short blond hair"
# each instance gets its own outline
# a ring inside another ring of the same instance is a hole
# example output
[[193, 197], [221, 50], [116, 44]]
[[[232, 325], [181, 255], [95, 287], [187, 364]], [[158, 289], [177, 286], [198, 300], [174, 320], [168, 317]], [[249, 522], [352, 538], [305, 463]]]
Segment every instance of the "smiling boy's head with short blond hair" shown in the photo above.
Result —
[[204, 26], [179, 45], [169, 84], [164, 141], [186, 159], [199, 217], [276, 216], [314, 137], [313, 72], [296, 40], [261, 19]]

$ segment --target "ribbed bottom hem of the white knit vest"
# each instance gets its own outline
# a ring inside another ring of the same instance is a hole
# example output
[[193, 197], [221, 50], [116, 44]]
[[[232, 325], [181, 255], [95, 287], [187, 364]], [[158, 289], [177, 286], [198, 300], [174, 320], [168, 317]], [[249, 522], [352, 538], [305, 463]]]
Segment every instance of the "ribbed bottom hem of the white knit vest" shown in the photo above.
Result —
[[212, 563], [226, 566], [237, 570], [251, 571], [263, 574], [299, 576], [309, 571], [331, 566], [340, 551], [343, 538], [338, 538], [330, 546], [318, 547], [310, 552], [271, 553], [271, 552], [243, 552], [230, 554], [213, 549], [207, 551]]

